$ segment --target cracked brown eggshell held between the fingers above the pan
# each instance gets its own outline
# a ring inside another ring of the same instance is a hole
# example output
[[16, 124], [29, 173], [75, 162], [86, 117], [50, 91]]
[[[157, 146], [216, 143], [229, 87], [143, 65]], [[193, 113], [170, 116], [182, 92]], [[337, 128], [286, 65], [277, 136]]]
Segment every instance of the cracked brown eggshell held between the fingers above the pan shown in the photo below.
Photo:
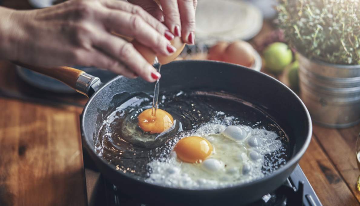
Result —
[[[176, 48], [176, 51], [173, 54], [171, 54], [170, 56], [158, 55], [157, 58], [158, 58], [158, 60], [159, 60], [159, 62], [161, 64], [167, 64], [167, 63], [171, 62], [172, 60], [174, 60], [177, 56], [179, 56], [179, 54], [181, 53], [181, 51], [183, 51], [183, 49], [185, 47], [185, 43], [181, 40], [180, 37], [175, 37], [170, 42], [171, 42], [171, 45]], [[140, 44], [136, 40], [132, 41], [131, 43], [132, 43], [132, 45], [134, 45], [135, 49], [138, 50], [139, 53], [141, 55], [143, 55], [143, 57], [150, 64], [154, 63], [156, 54], [152, 49], [150, 49], [147, 46], [144, 46], [144, 45]]]

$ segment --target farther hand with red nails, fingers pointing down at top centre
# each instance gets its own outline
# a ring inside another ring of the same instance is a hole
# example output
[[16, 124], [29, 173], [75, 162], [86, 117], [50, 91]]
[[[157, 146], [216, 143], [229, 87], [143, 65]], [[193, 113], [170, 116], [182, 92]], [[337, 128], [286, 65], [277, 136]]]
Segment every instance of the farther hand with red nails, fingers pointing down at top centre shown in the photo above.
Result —
[[159, 21], [164, 22], [175, 36], [181, 36], [187, 44], [195, 40], [195, 9], [197, 0], [128, 0], [143, 7]]

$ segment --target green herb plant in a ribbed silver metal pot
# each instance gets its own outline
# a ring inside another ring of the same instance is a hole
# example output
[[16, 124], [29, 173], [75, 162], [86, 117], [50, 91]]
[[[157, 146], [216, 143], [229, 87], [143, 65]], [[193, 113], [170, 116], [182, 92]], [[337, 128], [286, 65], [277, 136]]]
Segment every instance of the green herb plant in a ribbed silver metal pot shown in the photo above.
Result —
[[315, 123], [360, 122], [359, 0], [278, 0], [278, 22], [297, 51], [300, 97]]

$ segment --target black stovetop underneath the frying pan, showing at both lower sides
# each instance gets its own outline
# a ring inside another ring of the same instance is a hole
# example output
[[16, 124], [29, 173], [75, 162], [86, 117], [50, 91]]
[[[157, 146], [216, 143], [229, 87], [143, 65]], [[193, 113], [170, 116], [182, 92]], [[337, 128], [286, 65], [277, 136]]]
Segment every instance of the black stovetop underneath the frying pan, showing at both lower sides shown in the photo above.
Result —
[[[134, 197], [117, 191], [89, 157], [84, 156], [87, 200], [89, 206], [154, 206], [139, 202]], [[274, 192], [247, 206], [322, 206], [309, 180], [297, 165], [289, 178]]]

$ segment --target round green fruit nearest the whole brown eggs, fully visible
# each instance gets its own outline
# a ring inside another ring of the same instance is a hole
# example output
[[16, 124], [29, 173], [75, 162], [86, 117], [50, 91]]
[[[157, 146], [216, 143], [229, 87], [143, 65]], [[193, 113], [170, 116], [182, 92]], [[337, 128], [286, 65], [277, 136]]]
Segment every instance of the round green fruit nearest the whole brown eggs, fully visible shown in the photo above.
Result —
[[262, 56], [265, 68], [271, 73], [281, 73], [292, 62], [292, 52], [287, 44], [275, 42], [266, 47]]

